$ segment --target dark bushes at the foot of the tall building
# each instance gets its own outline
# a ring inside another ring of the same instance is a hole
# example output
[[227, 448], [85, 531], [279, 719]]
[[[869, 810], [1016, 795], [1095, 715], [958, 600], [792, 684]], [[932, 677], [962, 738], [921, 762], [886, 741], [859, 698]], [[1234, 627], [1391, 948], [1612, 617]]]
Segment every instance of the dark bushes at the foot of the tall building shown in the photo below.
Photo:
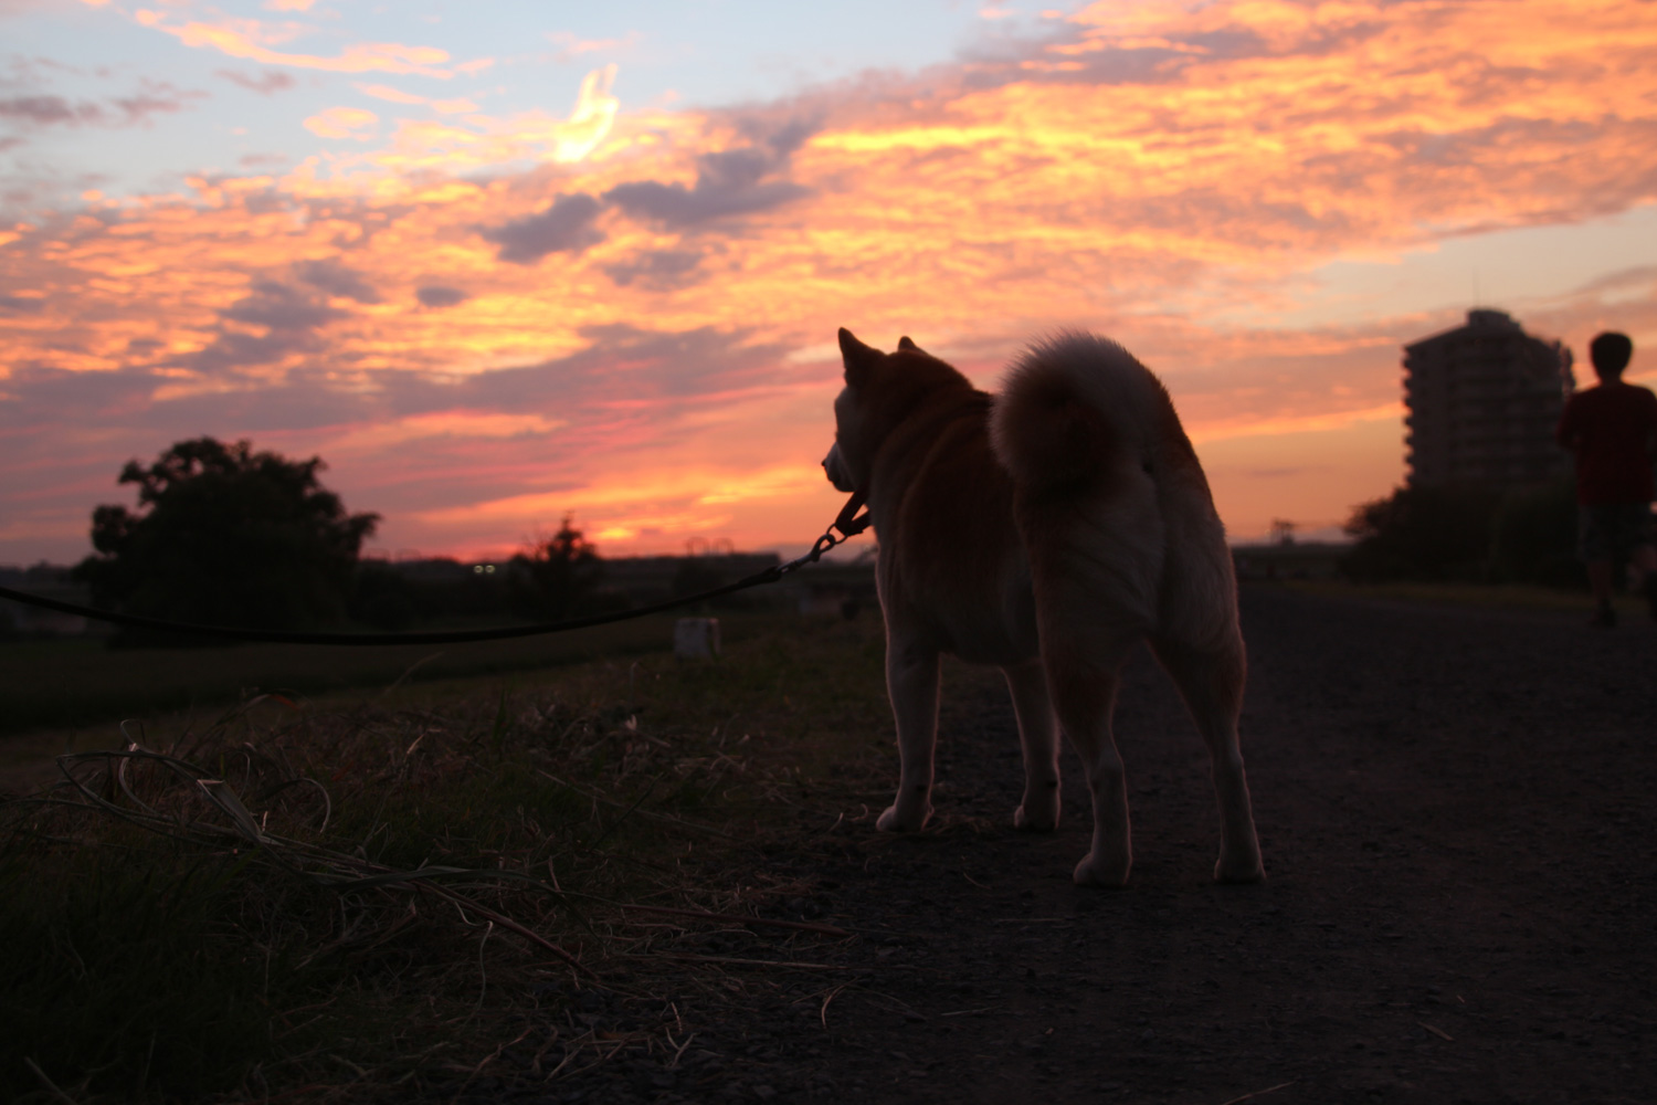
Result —
[[1399, 487], [1344, 528], [1357, 543], [1341, 567], [1359, 581], [1587, 585], [1569, 475], [1506, 492]]

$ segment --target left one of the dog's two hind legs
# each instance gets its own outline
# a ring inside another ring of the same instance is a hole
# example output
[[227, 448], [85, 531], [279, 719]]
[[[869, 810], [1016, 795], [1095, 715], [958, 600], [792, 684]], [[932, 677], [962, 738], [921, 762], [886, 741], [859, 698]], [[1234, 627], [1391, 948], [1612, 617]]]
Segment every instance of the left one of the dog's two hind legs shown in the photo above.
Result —
[[1122, 886], [1133, 866], [1127, 775], [1112, 732], [1117, 671], [1130, 644], [1132, 639], [1102, 643], [1084, 636], [1074, 648], [1049, 648], [1042, 654], [1059, 726], [1082, 759], [1094, 797], [1094, 843], [1075, 865], [1077, 886]]

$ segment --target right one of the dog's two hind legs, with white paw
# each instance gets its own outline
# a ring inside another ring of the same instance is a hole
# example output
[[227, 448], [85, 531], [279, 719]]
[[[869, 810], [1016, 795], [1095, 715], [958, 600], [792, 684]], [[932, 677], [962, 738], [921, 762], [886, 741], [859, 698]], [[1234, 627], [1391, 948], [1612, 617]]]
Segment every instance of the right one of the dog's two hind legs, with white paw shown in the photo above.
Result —
[[1223, 644], [1198, 648], [1152, 638], [1152, 649], [1185, 696], [1208, 744], [1215, 795], [1220, 799], [1220, 861], [1215, 865], [1215, 878], [1221, 883], [1258, 883], [1264, 878], [1264, 868], [1254, 835], [1248, 779], [1243, 774], [1243, 747], [1238, 742], [1238, 714], [1243, 712], [1248, 671], [1243, 639], [1229, 635]]

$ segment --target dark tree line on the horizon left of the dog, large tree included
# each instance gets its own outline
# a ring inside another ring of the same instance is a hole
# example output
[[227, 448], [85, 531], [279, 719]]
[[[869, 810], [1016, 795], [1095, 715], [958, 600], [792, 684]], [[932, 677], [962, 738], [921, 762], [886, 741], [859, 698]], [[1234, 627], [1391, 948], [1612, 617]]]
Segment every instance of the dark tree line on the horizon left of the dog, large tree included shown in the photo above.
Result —
[[[620, 611], [631, 598], [606, 586], [605, 562], [573, 515], [504, 563], [389, 563], [363, 558], [378, 514], [350, 514], [323, 487], [320, 457], [255, 452], [247, 441], [181, 441], [119, 484], [138, 505], [93, 512], [93, 555], [75, 567], [93, 603], [123, 613], [255, 630], [374, 628], [562, 621]], [[729, 578], [686, 558], [669, 595], [694, 595]], [[204, 644], [121, 630], [116, 646]]]

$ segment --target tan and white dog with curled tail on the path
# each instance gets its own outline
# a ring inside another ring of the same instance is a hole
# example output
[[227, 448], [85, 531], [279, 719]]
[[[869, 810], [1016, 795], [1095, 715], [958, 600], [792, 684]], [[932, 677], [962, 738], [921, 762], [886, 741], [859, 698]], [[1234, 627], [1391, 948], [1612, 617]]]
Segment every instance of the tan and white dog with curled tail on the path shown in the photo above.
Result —
[[1112, 736], [1118, 669], [1147, 641], [1208, 746], [1215, 878], [1263, 878], [1238, 714], [1246, 659], [1236, 578], [1208, 480], [1162, 383], [1120, 345], [1031, 345], [1001, 394], [908, 338], [882, 353], [840, 330], [828, 480], [867, 500], [880, 547], [886, 689], [900, 780], [883, 832], [931, 817], [938, 663], [1006, 674], [1024, 750], [1024, 830], [1059, 825], [1059, 731], [1087, 770], [1094, 835], [1077, 885], [1133, 865]]

